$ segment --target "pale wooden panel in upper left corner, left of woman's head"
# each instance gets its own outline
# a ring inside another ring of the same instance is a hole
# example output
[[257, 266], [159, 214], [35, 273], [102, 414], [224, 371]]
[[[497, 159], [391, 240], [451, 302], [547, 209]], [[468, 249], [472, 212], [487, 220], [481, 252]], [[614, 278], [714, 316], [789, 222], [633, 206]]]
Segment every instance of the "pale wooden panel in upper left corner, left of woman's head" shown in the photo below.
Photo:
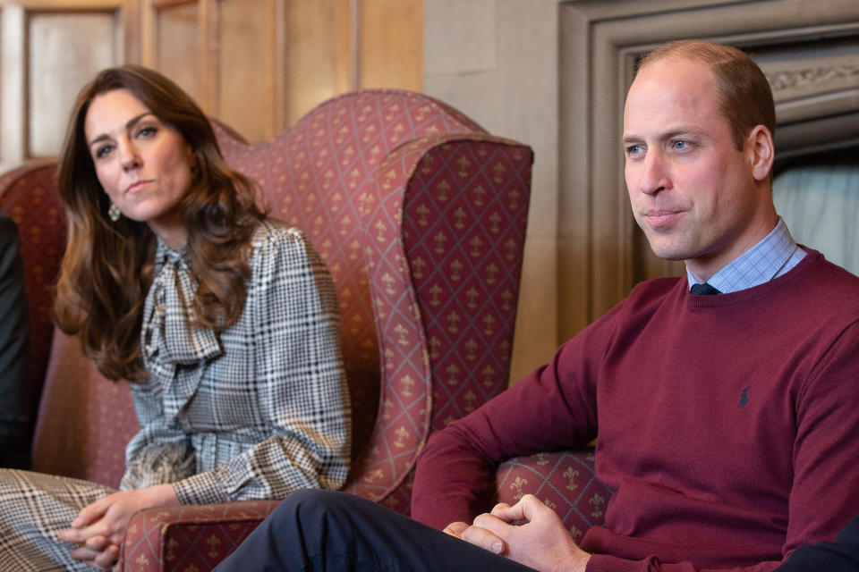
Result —
[[137, 55], [136, 6], [137, 0], [0, 5], [0, 172], [56, 155], [83, 84]]

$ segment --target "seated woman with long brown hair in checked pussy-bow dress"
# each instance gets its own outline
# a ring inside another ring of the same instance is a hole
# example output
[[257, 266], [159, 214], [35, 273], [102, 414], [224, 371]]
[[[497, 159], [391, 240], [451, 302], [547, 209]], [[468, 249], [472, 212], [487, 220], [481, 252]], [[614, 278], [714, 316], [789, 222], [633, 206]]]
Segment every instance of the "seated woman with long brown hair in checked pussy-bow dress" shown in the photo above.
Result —
[[0, 570], [109, 569], [139, 509], [339, 488], [350, 423], [333, 284], [300, 231], [260, 212], [191, 98], [155, 71], [102, 71], [58, 179], [56, 323], [132, 382], [140, 433], [120, 492], [0, 471]]

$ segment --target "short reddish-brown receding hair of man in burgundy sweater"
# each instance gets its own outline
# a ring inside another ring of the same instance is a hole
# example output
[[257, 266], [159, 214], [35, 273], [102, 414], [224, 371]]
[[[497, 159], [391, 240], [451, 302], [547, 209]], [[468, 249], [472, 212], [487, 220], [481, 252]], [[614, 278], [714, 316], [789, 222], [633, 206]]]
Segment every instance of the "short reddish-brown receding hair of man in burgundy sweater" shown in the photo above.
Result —
[[701, 40], [677, 40], [645, 55], [638, 64], [638, 70], [671, 57], [710, 66], [719, 91], [719, 113], [731, 126], [737, 150], [743, 149], [745, 137], [757, 125], [763, 125], [775, 137], [776, 105], [772, 100], [770, 83], [761, 68], [742, 50]]

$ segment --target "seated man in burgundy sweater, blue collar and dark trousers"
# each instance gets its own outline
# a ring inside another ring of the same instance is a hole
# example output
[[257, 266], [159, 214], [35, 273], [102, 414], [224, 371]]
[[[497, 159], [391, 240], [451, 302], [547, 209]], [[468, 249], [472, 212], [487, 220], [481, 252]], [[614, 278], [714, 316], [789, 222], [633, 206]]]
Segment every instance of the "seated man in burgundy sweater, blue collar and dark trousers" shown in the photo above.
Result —
[[[302, 493], [218, 569], [252, 553], [266, 569], [762, 572], [834, 537], [859, 513], [859, 278], [778, 218], [774, 130], [742, 52], [651, 53], [626, 99], [626, 184], [651, 248], [687, 276], [639, 284], [548, 366], [434, 433], [412, 495], [430, 528]], [[474, 516], [500, 461], [598, 429], [615, 494], [581, 547], [533, 496]]]

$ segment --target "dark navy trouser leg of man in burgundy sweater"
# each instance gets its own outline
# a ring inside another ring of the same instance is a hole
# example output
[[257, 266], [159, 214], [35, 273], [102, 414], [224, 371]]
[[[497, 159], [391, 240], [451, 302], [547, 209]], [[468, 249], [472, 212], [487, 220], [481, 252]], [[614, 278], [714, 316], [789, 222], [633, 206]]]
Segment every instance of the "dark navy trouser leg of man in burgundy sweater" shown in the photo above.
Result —
[[216, 572], [533, 572], [345, 492], [293, 492]]

